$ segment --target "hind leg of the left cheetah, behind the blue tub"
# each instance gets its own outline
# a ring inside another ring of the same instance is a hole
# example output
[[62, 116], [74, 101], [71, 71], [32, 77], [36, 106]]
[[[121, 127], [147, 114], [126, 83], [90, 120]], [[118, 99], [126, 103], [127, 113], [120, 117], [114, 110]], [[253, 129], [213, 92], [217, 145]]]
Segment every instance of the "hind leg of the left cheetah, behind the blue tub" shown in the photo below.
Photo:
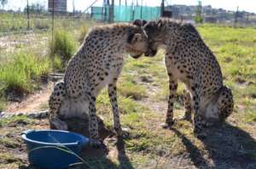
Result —
[[49, 127], [56, 130], [67, 130], [67, 124], [58, 117], [61, 104], [65, 99], [65, 84], [57, 82], [54, 90], [49, 97]]

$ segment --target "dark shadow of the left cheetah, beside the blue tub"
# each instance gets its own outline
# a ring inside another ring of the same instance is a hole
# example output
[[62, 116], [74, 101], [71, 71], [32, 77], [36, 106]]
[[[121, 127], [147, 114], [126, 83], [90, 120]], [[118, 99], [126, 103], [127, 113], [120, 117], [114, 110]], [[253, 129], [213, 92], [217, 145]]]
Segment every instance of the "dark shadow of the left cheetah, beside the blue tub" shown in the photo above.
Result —
[[[111, 168], [111, 169], [134, 169], [131, 165], [131, 161], [127, 157], [125, 153], [125, 142], [123, 138], [114, 137], [113, 130], [106, 127], [104, 122], [99, 116], [97, 117], [98, 121], [98, 130], [99, 135], [102, 140], [105, 140], [104, 143], [107, 144], [109, 150], [114, 151], [114, 154], [117, 154], [117, 160], [119, 161], [119, 165], [113, 163], [108, 158], [109, 152], [105, 149], [96, 149], [90, 146], [86, 146], [83, 149], [82, 157], [85, 159], [87, 164], [83, 164], [82, 166], [78, 166], [73, 169], [84, 169], [84, 168]], [[70, 119], [67, 122], [68, 129], [72, 132], [79, 132], [86, 137], [89, 137], [89, 120], [88, 119]], [[110, 138], [110, 139], [108, 139]], [[112, 139], [113, 138], [113, 139]], [[109, 141], [112, 140], [112, 141]], [[111, 147], [109, 145], [112, 144]], [[114, 149], [114, 150], [112, 150]]]

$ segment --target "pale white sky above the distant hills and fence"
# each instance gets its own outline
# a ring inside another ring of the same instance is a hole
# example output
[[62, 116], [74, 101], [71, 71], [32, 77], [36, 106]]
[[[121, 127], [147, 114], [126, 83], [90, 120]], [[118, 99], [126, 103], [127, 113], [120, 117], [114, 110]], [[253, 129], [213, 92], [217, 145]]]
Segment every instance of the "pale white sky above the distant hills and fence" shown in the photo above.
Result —
[[[21, 9], [26, 6], [26, 0], [8, 0], [9, 3], [5, 6], [6, 9]], [[47, 7], [48, 0], [28, 0], [29, 3], [41, 3]], [[67, 9], [73, 11], [73, 1], [75, 8], [77, 10], [84, 11], [88, 8], [91, 3], [95, 0], [67, 0]], [[111, 0], [109, 0], [111, 2]], [[131, 2], [137, 2], [137, 0], [127, 0], [128, 4]], [[160, 6], [161, 0], [138, 0], [138, 3], [148, 6]], [[202, 5], [212, 5], [212, 8], [224, 8], [228, 10], [236, 11], [237, 6], [239, 10], [245, 10], [247, 12], [256, 13], [256, 0], [201, 0]], [[116, 4], [119, 4], [119, 0], [115, 0]], [[125, 4], [125, 0], [121, 0], [122, 4]], [[166, 0], [166, 4], [186, 4], [186, 5], [196, 5], [197, 0]], [[97, 0], [95, 6], [102, 6], [103, 0]]]

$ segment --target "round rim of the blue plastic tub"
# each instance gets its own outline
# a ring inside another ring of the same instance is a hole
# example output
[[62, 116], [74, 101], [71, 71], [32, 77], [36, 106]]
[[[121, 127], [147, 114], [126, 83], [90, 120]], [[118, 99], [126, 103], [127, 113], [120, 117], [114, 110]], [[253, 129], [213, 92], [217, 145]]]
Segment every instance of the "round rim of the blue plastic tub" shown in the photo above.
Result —
[[[78, 136], [81, 138], [80, 140], [73, 142], [73, 143], [49, 143], [49, 142], [41, 142], [38, 140], [33, 140], [30, 138], [27, 138], [26, 135], [29, 134], [30, 132], [63, 132], [67, 134], [72, 134], [75, 136]], [[31, 142], [33, 144], [44, 144], [44, 145], [79, 145], [79, 144], [87, 144], [89, 143], [89, 138], [84, 137], [83, 135], [76, 133], [76, 132], [68, 132], [64, 130], [27, 130], [25, 132], [22, 132], [21, 138], [25, 140], [26, 142]]]

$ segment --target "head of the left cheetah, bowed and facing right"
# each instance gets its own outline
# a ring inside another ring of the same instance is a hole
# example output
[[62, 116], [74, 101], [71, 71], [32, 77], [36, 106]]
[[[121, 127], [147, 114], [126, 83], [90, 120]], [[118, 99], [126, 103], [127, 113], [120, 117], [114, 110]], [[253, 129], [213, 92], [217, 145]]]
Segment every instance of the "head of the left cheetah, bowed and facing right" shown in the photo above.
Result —
[[145, 20], [135, 20], [133, 25], [137, 25], [136, 31], [129, 35], [127, 40], [127, 52], [132, 58], [137, 59], [148, 51], [148, 36], [143, 30]]

